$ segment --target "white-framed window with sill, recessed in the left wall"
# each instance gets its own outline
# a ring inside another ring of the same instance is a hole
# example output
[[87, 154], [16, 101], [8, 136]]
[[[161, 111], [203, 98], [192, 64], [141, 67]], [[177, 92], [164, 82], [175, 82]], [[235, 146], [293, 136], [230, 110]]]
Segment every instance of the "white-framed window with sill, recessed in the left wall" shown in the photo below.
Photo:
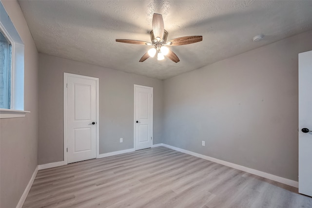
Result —
[[24, 44], [0, 1], [0, 118], [25, 113]]

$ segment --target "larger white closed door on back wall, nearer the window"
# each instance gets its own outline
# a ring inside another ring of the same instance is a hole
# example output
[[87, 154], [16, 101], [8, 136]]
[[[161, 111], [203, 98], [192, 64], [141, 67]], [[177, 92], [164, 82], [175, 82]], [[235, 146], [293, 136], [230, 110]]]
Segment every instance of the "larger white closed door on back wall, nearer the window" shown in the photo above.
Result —
[[67, 163], [73, 163], [97, 156], [97, 78], [67, 75]]

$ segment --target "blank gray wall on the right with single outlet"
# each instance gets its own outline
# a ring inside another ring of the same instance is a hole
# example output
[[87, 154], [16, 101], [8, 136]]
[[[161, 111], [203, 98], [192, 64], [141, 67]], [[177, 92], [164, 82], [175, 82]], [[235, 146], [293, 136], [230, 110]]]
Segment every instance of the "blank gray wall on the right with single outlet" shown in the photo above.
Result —
[[311, 37], [165, 80], [163, 142], [297, 181], [298, 53], [312, 50]]

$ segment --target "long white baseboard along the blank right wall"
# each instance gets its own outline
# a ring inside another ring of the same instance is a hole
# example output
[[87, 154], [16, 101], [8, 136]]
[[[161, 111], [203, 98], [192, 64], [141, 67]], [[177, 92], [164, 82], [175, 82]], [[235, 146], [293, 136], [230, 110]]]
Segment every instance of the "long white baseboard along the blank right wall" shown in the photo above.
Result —
[[249, 173], [252, 173], [254, 175], [258, 175], [258, 176], [261, 176], [261, 177], [264, 177], [264, 178], [267, 178], [267, 179], [270, 179], [270, 180], [273, 180], [273, 181], [277, 181], [277, 182], [282, 183], [282, 184], [286, 184], [286, 185], [298, 188], [298, 181], [293, 181], [293, 180], [290, 180], [290, 179], [287, 179], [287, 178], [283, 178], [283, 177], [280, 177], [280, 176], [277, 176], [277, 175], [273, 175], [273, 174], [270, 174], [270, 173], [267, 173], [267, 172], [262, 172], [260, 170], [254, 170], [254, 169], [247, 168], [247, 167], [244, 167], [244, 166], [236, 165], [234, 163], [230, 163], [230, 162], [227, 162], [227, 161], [224, 161], [224, 160], [219, 160], [219, 159], [216, 159], [214, 157], [209, 157], [209, 156], [206, 156], [206, 155], [203, 155], [203, 154], [199, 154], [199, 153], [196, 153], [196, 152], [193, 152], [193, 151], [183, 150], [183, 149], [171, 146], [171, 145], [162, 144], [162, 146], [170, 148], [170, 149], [173, 149], [173, 150], [176, 150], [176, 151], [180, 151], [180, 152], [183, 152], [183, 153], [186, 153], [186, 154], [190, 154], [190, 155], [193, 155], [195, 157], [200, 157], [200, 158], [205, 159], [205, 160], [210, 160], [212, 162], [219, 163], [221, 165], [225, 165], [225, 166], [237, 169], [237, 170], [242, 170], [242, 171], [245, 171], [245, 172], [249, 172]]

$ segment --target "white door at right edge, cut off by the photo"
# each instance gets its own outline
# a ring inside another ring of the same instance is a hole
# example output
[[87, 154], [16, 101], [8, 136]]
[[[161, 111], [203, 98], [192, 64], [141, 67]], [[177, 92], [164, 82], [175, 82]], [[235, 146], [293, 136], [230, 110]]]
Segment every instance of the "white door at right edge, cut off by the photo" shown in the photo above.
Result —
[[312, 196], [312, 51], [299, 54], [299, 193]]

